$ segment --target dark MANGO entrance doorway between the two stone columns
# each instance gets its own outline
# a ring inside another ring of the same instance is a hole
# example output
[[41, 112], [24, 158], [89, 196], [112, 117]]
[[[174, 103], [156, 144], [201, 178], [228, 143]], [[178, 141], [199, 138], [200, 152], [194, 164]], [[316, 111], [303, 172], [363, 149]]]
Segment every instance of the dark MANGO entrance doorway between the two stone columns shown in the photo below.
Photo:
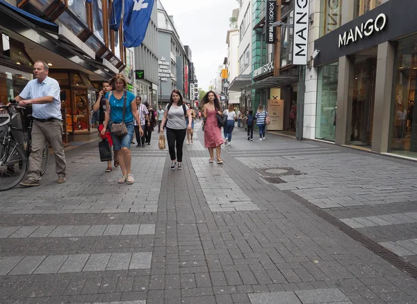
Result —
[[354, 73], [350, 79], [352, 98], [352, 125], [350, 144], [369, 147], [372, 143], [373, 110], [375, 103], [375, 76], [377, 48], [354, 56]]

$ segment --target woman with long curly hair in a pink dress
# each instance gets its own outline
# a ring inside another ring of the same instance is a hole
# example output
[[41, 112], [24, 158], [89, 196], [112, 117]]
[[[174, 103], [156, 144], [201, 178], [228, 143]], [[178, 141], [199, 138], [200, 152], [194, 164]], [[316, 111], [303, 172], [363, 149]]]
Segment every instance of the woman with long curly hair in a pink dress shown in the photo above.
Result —
[[222, 132], [215, 117], [216, 114], [222, 115], [222, 111], [218, 97], [211, 90], [203, 97], [203, 116], [206, 118], [206, 122], [204, 122], [204, 146], [208, 148], [208, 152], [210, 153], [209, 163], [213, 163], [214, 161], [214, 148], [217, 154], [216, 163], [223, 163], [220, 158], [220, 152], [222, 151], [224, 139], [222, 138]]

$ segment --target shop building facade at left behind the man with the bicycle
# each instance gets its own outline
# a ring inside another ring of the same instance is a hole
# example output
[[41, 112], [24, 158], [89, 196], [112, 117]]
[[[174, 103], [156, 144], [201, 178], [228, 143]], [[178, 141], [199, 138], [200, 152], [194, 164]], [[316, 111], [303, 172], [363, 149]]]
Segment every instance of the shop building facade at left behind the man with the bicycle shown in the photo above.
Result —
[[92, 104], [101, 81], [131, 66], [121, 31], [109, 28], [111, 1], [0, 1], [0, 102], [33, 79], [33, 63], [49, 65], [60, 83], [63, 142], [97, 136]]

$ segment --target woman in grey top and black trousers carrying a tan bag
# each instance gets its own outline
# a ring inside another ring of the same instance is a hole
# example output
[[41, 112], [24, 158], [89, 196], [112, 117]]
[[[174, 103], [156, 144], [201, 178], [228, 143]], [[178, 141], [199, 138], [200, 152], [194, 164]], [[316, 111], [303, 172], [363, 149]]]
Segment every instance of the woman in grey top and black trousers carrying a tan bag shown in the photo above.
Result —
[[[188, 118], [188, 125], [186, 125], [185, 117]], [[165, 129], [165, 122], [167, 122], [167, 142], [171, 157], [170, 169], [175, 170], [175, 166], [177, 166], [177, 169], [181, 170], [183, 143], [186, 139], [186, 131], [191, 129], [191, 111], [186, 104], [183, 104], [183, 97], [179, 90], [172, 90], [170, 103], [165, 106], [161, 122], [161, 133]]]

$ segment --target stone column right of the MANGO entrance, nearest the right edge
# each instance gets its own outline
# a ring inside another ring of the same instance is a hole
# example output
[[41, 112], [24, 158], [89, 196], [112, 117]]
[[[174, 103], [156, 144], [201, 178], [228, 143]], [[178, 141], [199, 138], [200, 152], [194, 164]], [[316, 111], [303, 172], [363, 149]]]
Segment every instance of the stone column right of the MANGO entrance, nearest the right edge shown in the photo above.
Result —
[[387, 152], [391, 129], [395, 46], [391, 42], [378, 45], [377, 76], [373, 113], [372, 150]]

